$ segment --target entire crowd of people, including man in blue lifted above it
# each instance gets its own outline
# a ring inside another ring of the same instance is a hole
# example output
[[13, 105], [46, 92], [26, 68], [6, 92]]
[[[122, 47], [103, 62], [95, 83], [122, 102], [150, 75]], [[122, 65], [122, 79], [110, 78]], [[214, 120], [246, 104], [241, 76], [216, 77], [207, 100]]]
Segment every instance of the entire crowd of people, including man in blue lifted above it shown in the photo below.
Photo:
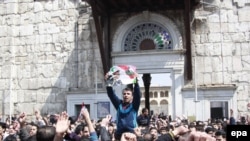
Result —
[[34, 121], [21, 113], [0, 123], [0, 141], [226, 141], [227, 125], [250, 123], [248, 119], [237, 121], [232, 110], [229, 119], [207, 121], [150, 115], [147, 108], [138, 111], [141, 96], [137, 81], [122, 91], [122, 99], [112, 85], [107, 85], [107, 94], [117, 110], [115, 121], [111, 115], [95, 121], [84, 107], [80, 116], [71, 117], [65, 111], [51, 116], [36, 111]]

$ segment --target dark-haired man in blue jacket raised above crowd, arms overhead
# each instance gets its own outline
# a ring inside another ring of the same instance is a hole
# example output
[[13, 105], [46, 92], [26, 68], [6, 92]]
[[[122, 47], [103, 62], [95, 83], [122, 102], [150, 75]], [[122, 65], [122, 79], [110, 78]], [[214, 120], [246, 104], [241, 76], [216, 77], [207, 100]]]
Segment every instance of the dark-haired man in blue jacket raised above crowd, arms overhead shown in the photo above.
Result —
[[[108, 74], [105, 78], [108, 79]], [[106, 89], [109, 99], [117, 110], [115, 138], [120, 140], [122, 133], [134, 133], [134, 129], [138, 127], [137, 116], [141, 102], [140, 87], [136, 79], [133, 89], [126, 87], [122, 90], [122, 99], [118, 98], [111, 85], [108, 85]]]

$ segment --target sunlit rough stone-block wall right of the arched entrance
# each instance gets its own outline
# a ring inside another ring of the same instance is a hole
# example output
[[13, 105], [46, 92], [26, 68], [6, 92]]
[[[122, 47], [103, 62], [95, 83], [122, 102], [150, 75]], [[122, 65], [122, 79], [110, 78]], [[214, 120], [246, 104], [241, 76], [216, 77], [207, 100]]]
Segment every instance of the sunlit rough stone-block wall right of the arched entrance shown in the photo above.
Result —
[[250, 102], [250, 7], [245, 4], [238, 0], [203, 4], [192, 24], [198, 85], [236, 84], [239, 115], [249, 112]]

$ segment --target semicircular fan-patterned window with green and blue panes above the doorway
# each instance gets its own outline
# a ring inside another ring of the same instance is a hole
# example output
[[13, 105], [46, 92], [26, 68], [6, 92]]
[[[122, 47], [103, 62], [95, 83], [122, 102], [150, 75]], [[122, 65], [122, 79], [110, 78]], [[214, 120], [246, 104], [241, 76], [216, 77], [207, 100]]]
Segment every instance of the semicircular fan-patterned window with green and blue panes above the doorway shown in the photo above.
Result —
[[125, 36], [124, 51], [173, 49], [169, 31], [155, 23], [142, 23]]

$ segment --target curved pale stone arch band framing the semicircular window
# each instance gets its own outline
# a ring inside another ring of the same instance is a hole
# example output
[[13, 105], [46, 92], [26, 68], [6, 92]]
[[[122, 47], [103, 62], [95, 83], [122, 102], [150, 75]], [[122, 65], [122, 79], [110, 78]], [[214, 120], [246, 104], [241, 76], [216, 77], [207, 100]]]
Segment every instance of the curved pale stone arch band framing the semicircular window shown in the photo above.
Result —
[[[147, 12], [147, 14], [141, 13], [129, 18], [117, 29], [112, 41], [112, 52], [122, 52], [124, 49], [123, 43], [126, 42], [126, 37], [129, 34], [128, 32], [136, 30], [136, 27], [141, 24], [146, 24], [144, 28], [150, 26], [148, 24], [152, 24], [154, 27], [150, 28], [155, 28], [156, 30], [159, 28], [166, 29], [172, 36], [173, 49], [183, 49], [182, 36], [174, 22], [163, 15]], [[150, 32], [150, 30], [146, 31]], [[151, 35], [151, 33], [148, 34], [149, 36]]]

